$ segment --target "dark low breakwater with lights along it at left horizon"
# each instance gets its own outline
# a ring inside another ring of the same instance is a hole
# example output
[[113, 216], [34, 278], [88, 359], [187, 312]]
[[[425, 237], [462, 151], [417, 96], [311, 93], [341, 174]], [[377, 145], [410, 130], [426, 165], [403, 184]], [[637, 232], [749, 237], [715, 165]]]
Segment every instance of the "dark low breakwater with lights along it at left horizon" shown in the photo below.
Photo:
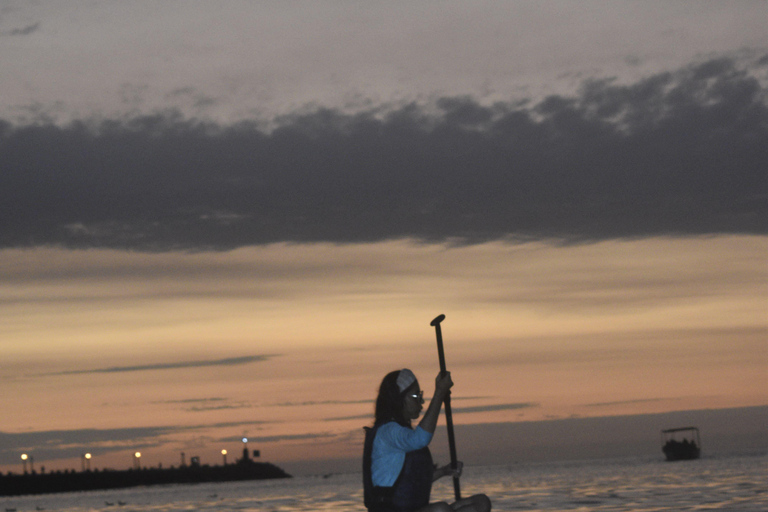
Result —
[[291, 475], [269, 462], [255, 462], [243, 449], [242, 458], [233, 464], [201, 465], [196, 458], [190, 464], [170, 468], [134, 467], [128, 470], [25, 472], [0, 474], [0, 496], [20, 496], [73, 491], [120, 489], [143, 485], [196, 484], [291, 478]]

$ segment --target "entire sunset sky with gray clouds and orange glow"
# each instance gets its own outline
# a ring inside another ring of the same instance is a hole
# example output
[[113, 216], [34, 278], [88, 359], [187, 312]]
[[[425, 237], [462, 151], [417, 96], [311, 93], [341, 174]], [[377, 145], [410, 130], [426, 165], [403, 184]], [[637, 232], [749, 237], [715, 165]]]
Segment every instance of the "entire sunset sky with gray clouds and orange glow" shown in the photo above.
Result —
[[440, 313], [469, 463], [592, 421], [768, 448], [767, 24], [0, 2], [0, 471], [214, 464], [244, 436], [354, 470], [381, 378], [431, 393]]

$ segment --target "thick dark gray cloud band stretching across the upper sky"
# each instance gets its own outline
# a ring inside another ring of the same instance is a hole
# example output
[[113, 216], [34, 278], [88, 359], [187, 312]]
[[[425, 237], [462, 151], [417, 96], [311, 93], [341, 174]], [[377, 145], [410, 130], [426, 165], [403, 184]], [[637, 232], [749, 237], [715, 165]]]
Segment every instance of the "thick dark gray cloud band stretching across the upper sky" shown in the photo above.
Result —
[[174, 113], [0, 121], [0, 247], [765, 234], [766, 60], [537, 104], [319, 108], [269, 131]]

